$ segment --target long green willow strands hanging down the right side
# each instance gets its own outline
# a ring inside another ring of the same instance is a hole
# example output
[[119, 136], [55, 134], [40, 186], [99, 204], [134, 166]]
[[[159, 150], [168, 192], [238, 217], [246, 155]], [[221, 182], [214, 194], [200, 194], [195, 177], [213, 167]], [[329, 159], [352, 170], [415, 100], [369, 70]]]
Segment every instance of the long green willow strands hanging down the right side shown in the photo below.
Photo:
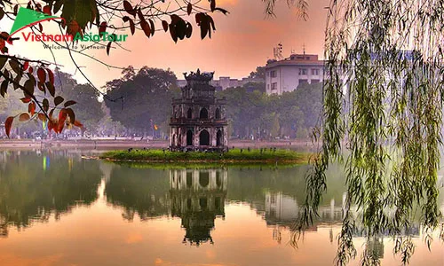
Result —
[[[306, 176], [297, 229], [317, 215], [329, 164], [345, 160], [337, 264], [356, 257], [358, 227], [369, 239], [388, 232], [393, 252], [408, 263], [414, 252], [408, 229], [417, 217], [429, 248], [432, 231], [442, 228], [444, 0], [331, 0], [328, 12], [322, 145]], [[361, 264], [375, 263], [365, 249]]]

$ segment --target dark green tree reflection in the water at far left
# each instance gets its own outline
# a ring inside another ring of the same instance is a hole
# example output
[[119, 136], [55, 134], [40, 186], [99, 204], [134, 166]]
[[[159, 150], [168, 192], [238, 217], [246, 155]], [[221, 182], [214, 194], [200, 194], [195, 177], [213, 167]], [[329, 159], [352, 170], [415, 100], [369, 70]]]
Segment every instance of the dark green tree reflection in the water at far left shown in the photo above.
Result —
[[100, 179], [98, 161], [66, 152], [0, 152], [0, 236], [12, 226], [45, 223], [52, 214], [59, 220], [73, 207], [90, 205]]

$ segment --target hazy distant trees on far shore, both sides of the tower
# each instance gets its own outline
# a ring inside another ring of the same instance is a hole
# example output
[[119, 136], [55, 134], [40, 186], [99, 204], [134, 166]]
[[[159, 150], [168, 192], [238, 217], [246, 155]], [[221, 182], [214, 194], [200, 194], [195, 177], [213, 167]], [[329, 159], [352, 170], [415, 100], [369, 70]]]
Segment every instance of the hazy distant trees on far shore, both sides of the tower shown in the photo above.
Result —
[[[263, 72], [258, 67], [251, 75]], [[259, 74], [260, 75], [260, 74]], [[83, 136], [166, 137], [169, 133], [171, 99], [180, 97], [177, 77], [170, 69], [128, 66], [122, 76], [107, 82], [107, 98], [102, 100], [90, 85], [79, 84], [70, 75], [56, 72], [60, 95], [75, 100], [76, 117], [84, 129], [67, 130]], [[249, 82], [242, 87], [218, 91], [227, 100], [226, 115], [231, 137], [270, 139], [275, 137], [308, 137], [321, 112], [321, 84], [304, 84], [281, 96], [265, 93], [264, 82]], [[0, 102], [0, 119], [22, 108], [19, 90], [8, 91]], [[108, 100], [115, 99], [114, 101]], [[45, 135], [41, 121], [17, 122], [14, 133], [33, 137]]]

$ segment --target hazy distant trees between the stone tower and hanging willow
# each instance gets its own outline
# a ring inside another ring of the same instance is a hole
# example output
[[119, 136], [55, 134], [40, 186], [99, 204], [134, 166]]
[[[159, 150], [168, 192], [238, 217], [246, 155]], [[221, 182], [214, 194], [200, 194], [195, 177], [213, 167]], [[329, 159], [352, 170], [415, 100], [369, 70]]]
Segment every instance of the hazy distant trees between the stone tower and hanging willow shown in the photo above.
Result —
[[282, 95], [249, 90], [250, 85], [218, 92], [227, 100], [226, 113], [232, 137], [309, 137], [319, 121], [322, 84], [302, 84]]

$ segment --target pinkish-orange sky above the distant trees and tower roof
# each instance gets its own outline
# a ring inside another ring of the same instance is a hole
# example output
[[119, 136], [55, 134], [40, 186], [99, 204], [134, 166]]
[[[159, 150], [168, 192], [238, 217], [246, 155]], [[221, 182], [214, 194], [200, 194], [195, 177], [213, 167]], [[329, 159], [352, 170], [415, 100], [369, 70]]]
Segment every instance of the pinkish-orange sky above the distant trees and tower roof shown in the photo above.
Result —
[[[289, 56], [291, 49], [302, 52], [304, 43], [307, 53], [322, 56], [327, 14], [324, 7], [329, 4], [328, 0], [309, 1], [307, 21], [298, 19], [295, 11], [289, 10], [284, 0], [278, 1], [275, 11], [277, 17], [268, 19], [261, 0], [218, 0], [217, 3], [230, 14], [213, 15], [217, 31], [211, 39], [200, 39], [199, 28], [193, 17], [185, 19], [192, 21], [194, 35], [178, 43], [174, 43], [168, 33], [161, 31], [157, 31], [150, 39], [142, 32], [137, 32], [124, 43], [124, 47], [130, 51], [113, 49], [109, 57], [104, 50], [87, 52], [113, 66], [170, 68], [179, 79], [183, 78], [183, 72], [194, 71], [198, 67], [202, 71], [215, 71], [216, 77], [248, 76], [256, 66], [264, 66], [267, 59], [273, 58], [273, 47], [277, 43], [283, 44], [284, 56]], [[50, 30], [50, 22], [45, 23], [44, 27]], [[6, 23], [0, 25], [0, 29], [8, 32], [10, 27]], [[41, 43], [20, 42], [14, 44], [13, 51], [28, 58], [36, 59], [38, 55], [38, 59], [52, 61], [51, 53], [44, 50]], [[67, 51], [55, 51], [55, 54], [58, 63], [64, 66], [63, 70], [74, 74], [75, 67]], [[75, 59], [97, 87], [120, 76], [121, 70], [108, 69], [83, 56], [75, 56]], [[84, 82], [80, 74], [75, 74], [75, 77], [79, 82]]]

